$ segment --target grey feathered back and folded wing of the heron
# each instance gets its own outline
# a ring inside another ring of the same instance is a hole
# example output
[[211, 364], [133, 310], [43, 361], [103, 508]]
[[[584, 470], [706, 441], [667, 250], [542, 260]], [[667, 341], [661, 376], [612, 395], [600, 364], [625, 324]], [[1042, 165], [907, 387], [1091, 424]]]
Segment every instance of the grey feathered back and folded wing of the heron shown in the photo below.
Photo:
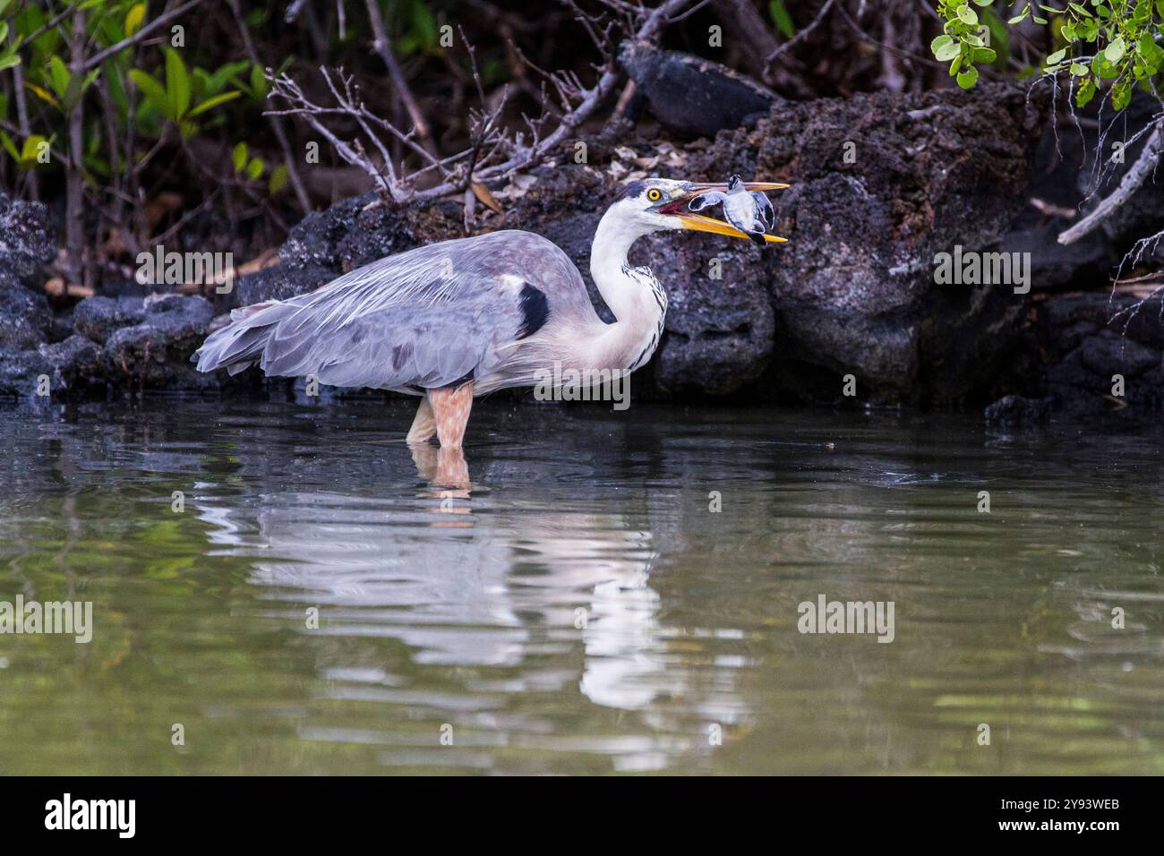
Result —
[[514, 385], [504, 374], [524, 340], [566, 319], [601, 324], [566, 253], [531, 232], [492, 232], [235, 310], [194, 359], [201, 372], [258, 363], [268, 375], [339, 387], [418, 391], [471, 377], [496, 388]]

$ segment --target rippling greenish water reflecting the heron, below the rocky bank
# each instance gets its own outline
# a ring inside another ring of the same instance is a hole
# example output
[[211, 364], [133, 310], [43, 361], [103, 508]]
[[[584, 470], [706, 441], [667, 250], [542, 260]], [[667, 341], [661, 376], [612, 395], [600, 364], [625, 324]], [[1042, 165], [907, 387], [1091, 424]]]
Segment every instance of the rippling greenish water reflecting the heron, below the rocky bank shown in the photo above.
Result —
[[1164, 773], [1158, 430], [485, 401], [448, 490], [410, 418], [0, 405], [0, 601], [93, 609], [0, 773]]

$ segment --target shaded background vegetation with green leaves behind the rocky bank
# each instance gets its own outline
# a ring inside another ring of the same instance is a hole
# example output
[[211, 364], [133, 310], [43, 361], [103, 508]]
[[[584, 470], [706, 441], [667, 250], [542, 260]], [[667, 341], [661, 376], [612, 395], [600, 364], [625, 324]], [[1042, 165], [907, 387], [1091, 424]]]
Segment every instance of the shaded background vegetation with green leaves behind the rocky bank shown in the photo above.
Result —
[[[943, 21], [928, 1], [688, 6], [666, 28], [663, 47], [724, 63], [786, 98], [952, 85], [929, 49]], [[250, 259], [277, 246], [307, 210], [371, 186], [310, 126], [264, 115], [272, 106], [269, 71], [286, 72], [319, 100], [327, 95], [319, 68], [342, 68], [371, 113], [446, 156], [469, 143], [474, 115], [501, 105], [503, 93], [503, 125], [547, 113], [552, 120], [563, 107], [547, 97], [538, 70], [566, 70], [591, 85], [604, 57], [582, 16], [609, 27], [599, 37], [613, 42], [625, 35], [618, 24], [627, 8], [7, 0], [0, 185], [51, 206], [64, 247], [58, 288], [72, 285], [78, 296], [130, 278], [136, 254], [157, 243]], [[1029, 73], [1050, 34], [1012, 35], [996, 14], [981, 14], [998, 33], [996, 69]], [[376, 38], [381, 24], [386, 50]], [[721, 43], [709, 37], [717, 26]], [[585, 129], [601, 128], [625, 98], [609, 101]], [[334, 127], [341, 136], [356, 130], [342, 116]], [[320, 143], [318, 163], [307, 162], [312, 142]], [[400, 140], [389, 151], [404, 170], [423, 163]]]

